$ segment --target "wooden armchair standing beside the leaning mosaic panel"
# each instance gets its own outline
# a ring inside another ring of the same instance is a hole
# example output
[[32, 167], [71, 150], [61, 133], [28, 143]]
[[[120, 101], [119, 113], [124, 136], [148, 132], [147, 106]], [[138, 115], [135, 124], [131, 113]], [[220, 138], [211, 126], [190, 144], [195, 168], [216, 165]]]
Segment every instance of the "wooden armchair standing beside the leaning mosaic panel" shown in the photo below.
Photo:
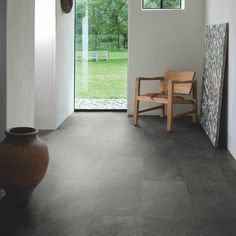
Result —
[[[173, 126], [173, 105], [174, 104], [191, 104], [192, 110], [179, 115], [192, 115], [193, 122], [197, 120], [197, 81], [194, 80], [195, 72], [192, 71], [174, 71], [167, 70], [163, 77], [137, 77], [135, 88], [134, 103], [134, 125], [138, 125], [138, 115], [147, 111], [161, 109], [160, 116], [165, 117], [165, 105], [167, 105], [167, 131], [172, 131]], [[159, 93], [140, 94], [141, 81], [159, 80]], [[192, 92], [192, 98], [186, 98]], [[158, 106], [139, 110], [139, 102], [154, 102]]]

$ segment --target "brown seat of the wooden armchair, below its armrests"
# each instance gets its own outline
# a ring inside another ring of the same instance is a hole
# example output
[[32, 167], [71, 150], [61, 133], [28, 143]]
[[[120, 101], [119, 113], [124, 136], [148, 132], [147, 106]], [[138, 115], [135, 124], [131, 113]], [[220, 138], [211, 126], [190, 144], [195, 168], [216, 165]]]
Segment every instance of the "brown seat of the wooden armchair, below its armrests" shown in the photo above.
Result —
[[[147, 101], [147, 102], [156, 102], [168, 104], [168, 95], [167, 93], [146, 93], [138, 96], [139, 101]], [[173, 103], [175, 104], [193, 104], [195, 101], [193, 99], [186, 99], [182, 96], [173, 96]]]

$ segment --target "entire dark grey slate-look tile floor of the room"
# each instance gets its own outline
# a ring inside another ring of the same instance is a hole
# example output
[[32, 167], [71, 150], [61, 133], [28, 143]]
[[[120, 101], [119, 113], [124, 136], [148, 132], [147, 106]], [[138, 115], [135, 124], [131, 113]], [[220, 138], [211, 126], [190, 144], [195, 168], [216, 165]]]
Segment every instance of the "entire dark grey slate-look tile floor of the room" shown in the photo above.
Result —
[[236, 164], [190, 118], [76, 113], [41, 134], [45, 179], [25, 204], [0, 201], [1, 236], [235, 236]]

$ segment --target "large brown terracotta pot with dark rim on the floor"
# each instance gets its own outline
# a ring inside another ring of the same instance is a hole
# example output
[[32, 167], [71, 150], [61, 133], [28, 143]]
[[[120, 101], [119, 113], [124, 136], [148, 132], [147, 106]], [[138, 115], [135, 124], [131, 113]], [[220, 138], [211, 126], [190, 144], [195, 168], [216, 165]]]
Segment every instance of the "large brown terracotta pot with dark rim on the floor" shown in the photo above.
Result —
[[37, 133], [34, 128], [12, 128], [0, 143], [0, 188], [11, 200], [29, 199], [46, 173], [48, 148]]

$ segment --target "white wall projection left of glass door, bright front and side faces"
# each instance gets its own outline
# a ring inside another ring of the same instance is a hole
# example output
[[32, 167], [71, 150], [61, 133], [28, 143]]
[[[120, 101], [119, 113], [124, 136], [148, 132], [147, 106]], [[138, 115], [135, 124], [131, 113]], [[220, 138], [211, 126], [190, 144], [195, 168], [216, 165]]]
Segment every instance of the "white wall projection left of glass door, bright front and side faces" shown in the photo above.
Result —
[[35, 126], [56, 129], [73, 112], [74, 9], [36, 0]]

